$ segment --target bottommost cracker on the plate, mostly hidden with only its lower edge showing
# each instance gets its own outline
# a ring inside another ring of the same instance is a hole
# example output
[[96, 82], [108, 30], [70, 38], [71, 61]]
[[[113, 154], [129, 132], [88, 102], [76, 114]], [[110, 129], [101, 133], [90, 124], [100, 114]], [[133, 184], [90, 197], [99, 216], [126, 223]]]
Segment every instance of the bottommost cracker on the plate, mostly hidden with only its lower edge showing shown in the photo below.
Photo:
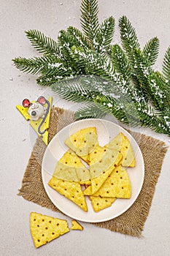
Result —
[[90, 195], [89, 198], [93, 210], [96, 212], [101, 211], [109, 206], [112, 206], [112, 203], [114, 203], [116, 200], [115, 197], [93, 197], [93, 195]]

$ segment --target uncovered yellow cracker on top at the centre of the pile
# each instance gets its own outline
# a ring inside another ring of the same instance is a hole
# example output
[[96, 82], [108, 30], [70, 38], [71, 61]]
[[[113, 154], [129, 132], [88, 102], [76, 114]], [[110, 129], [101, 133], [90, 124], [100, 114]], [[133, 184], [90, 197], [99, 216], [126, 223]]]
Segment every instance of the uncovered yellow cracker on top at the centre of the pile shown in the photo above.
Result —
[[91, 195], [96, 193], [104, 184], [112, 170], [119, 164], [122, 155], [112, 148], [97, 146], [89, 154]]

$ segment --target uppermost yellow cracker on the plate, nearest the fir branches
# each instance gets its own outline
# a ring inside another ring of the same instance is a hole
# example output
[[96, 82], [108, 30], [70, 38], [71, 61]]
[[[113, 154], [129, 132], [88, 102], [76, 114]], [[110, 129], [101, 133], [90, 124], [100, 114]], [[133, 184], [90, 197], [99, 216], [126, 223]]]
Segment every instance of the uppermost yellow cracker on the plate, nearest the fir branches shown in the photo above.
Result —
[[89, 153], [98, 146], [96, 127], [80, 129], [65, 140], [66, 146], [72, 149], [77, 156], [88, 162]]

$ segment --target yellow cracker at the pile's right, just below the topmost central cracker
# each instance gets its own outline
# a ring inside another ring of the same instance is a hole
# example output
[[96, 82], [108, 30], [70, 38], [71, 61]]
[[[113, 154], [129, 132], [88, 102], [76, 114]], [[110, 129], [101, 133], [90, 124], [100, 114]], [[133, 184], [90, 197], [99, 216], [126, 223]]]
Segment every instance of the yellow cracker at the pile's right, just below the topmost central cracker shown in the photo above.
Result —
[[[84, 195], [91, 195], [91, 186], [85, 189]], [[93, 196], [131, 198], [131, 181], [125, 167], [117, 166]]]

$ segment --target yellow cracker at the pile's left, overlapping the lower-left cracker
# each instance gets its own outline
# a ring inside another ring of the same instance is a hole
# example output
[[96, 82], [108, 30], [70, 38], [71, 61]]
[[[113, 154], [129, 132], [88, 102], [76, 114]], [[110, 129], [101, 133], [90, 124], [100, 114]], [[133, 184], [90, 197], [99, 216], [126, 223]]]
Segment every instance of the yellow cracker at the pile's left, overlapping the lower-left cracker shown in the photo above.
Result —
[[53, 176], [65, 181], [80, 181], [80, 184], [90, 184], [89, 170], [71, 149], [59, 159]]

